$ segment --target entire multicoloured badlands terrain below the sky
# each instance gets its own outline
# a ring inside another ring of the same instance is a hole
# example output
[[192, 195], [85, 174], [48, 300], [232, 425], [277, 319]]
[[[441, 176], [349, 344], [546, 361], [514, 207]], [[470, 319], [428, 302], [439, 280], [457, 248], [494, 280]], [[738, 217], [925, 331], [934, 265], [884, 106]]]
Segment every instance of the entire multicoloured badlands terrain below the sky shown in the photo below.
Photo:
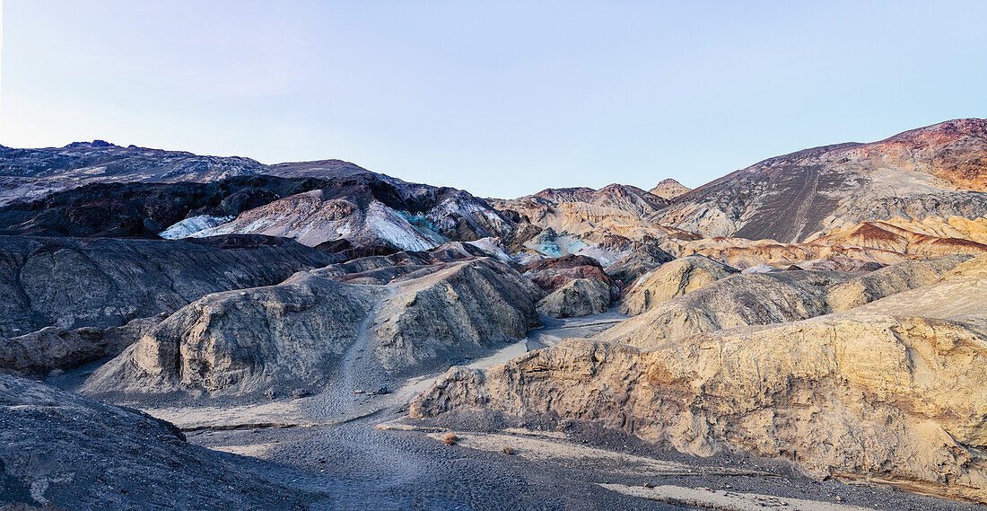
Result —
[[983, 509], [987, 120], [663, 178], [0, 146], [0, 509]]

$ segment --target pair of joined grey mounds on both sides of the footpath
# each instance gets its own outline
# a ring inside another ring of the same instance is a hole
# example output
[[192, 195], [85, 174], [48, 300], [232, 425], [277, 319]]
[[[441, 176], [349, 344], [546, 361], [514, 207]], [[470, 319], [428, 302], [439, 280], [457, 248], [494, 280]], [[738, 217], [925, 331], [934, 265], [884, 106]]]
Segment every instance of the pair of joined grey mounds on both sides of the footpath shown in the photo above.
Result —
[[371, 365], [388, 374], [434, 368], [523, 337], [538, 322], [540, 297], [530, 281], [491, 258], [431, 265], [388, 286], [301, 272], [277, 286], [190, 303], [81, 391], [314, 388], [341, 371], [353, 346], [372, 353]]

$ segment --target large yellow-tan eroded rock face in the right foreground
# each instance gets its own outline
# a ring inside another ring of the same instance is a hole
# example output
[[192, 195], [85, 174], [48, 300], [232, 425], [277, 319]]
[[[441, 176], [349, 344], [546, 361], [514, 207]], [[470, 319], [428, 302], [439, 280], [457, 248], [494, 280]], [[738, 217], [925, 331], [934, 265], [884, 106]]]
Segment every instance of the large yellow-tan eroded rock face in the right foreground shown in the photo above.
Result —
[[412, 413], [555, 413], [698, 456], [743, 450], [987, 502], [987, 256], [842, 313], [650, 350], [613, 341], [451, 370]]

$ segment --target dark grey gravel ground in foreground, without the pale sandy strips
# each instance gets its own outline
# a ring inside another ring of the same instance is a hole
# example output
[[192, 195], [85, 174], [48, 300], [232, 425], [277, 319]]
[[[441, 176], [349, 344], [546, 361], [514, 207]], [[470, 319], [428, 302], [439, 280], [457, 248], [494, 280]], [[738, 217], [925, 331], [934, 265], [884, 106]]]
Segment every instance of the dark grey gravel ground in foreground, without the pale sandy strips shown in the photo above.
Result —
[[636, 475], [625, 473], [619, 465], [596, 460], [529, 461], [522, 456], [447, 446], [422, 431], [374, 429], [379, 422], [400, 416], [388, 410], [337, 426], [199, 432], [190, 435], [189, 441], [220, 449], [265, 446], [257, 456], [278, 467], [297, 468], [267, 473], [267, 478], [305, 492], [326, 495], [311, 504], [313, 510], [683, 509], [679, 505], [616, 493], [598, 486], [599, 482], [725, 488], [888, 511], [987, 509], [889, 488], [850, 486], [836, 480], [814, 481], [784, 465], [750, 459], [696, 459], [677, 453], [657, 453], [634, 439], [579, 430], [578, 426], [573, 426], [575, 431], [570, 433], [569, 441], [579, 445], [585, 442], [700, 469], [748, 468], [773, 475]]

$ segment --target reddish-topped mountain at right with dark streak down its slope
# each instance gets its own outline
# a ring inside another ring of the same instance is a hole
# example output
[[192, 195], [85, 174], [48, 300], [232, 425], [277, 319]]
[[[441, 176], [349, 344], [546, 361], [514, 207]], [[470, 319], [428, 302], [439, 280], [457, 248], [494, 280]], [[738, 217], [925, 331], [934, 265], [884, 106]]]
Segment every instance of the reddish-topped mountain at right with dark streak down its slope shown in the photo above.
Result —
[[987, 213], [987, 120], [764, 160], [697, 188], [651, 220], [707, 236], [803, 241], [861, 221]]

